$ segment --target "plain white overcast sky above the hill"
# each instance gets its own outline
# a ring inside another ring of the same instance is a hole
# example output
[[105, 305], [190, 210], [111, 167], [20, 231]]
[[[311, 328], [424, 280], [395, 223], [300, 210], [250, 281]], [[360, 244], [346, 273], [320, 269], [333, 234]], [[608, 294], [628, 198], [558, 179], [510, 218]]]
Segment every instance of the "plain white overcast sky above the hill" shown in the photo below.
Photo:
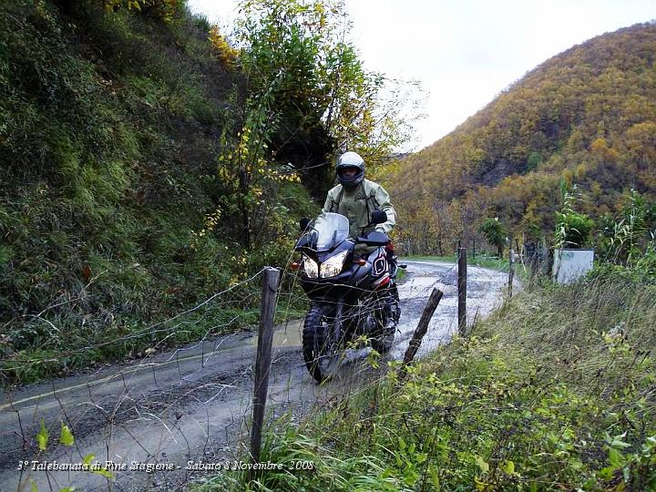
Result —
[[[230, 32], [237, 0], [189, 0]], [[415, 149], [444, 137], [549, 57], [656, 19], [654, 0], [346, 0], [369, 70], [419, 80]]]

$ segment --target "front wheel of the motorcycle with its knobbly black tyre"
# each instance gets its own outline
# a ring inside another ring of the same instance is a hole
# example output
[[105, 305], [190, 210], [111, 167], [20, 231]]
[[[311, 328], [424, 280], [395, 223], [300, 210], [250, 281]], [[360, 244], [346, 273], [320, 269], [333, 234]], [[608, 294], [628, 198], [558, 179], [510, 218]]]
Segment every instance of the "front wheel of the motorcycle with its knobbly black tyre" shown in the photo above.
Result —
[[302, 349], [307, 370], [323, 383], [339, 371], [345, 353], [339, 337], [334, 333], [334, 318], [326, 308], [315, 304], [305, 315]]

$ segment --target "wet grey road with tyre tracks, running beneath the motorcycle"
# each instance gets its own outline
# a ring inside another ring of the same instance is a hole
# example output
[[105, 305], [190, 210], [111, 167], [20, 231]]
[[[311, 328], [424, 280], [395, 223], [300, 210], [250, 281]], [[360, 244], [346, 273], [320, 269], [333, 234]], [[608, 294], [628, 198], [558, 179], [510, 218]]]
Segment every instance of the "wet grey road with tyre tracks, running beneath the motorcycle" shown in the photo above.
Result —
[[[433, 287], [445, 296], [419, 354], [446, 342], [457, 331], [456, 266], [410, 261], [407, 272], [399, 285], [399, 333], [388, 355], [395, 359], [403, 357]], [[500, 302], [506, 284], [506, 273], [468, 268], [470, 323], [476, 313], [489, 313]], [[274, 334], [269, 415], [288, 410], [292, 415], [306, 414], [379, 374], [366, 364], [367, 349], [362, 349], [349, 352], [332, 382], [314, 384], [302, 364], [301, 330], [302, 323], [293, 322], [279, 326]], [[235, 459], [243, 451], [239, 443], [249, 442], [256, 343], [254, 333], [234, 333], [133, 364], [117, 364], [2, 395], [0, 490], [31, 490], [32, 483], [40, 491], [63, 487], [179, 490], [190, 479], [210, 475], [186, 469], [188, 463]], [[36, 434], [41, 419], [49, 444], [39, 453]], [[71, 428], [74, 446], [57, 444], [61, 422]], [[55, 462], [79, 464], [89, 454], [95, 456], [93, 463], [115, 464], [111, 480], [89, 471], [32, 469]], [[143, 469], [148, 464], [172, 469], [149, 473]]]

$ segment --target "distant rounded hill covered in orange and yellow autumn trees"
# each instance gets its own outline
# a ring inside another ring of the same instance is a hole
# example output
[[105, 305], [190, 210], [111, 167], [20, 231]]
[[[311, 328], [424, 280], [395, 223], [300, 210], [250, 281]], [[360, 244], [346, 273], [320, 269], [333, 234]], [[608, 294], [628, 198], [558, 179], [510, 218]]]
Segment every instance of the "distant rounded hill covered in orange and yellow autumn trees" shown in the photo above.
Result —
[[654, 23], [595, 37], [399, 162], [386, 186], [400, 204], [404, 239], [424, 251], [448, 249], [476, 237], [485, 217], [498, 217], [516, 236], [549, 235], [561, 179], [579, 185], [579, 208], [595, 219], [619, 210], [630, 189], [653, 199], [654, 61]]

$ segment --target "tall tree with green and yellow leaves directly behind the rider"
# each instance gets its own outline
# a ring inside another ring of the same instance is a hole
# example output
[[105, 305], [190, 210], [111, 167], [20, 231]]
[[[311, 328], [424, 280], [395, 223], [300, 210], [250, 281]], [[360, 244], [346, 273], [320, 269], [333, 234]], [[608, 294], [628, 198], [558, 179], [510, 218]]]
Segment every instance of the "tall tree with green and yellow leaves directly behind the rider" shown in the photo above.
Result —
[[343, 2], [245, 0], [241, 13], [235, 39], [244, 84], [227, 118], [219, 172], [248, 248], [251, 214], [267, 203], [257, 182], [298, 172], [323, 198], [336, 149], [380, 158], [408, 138], [409, 126], [400, 93], [383, 97], [386, 79], [364, 69], [347, 39]]

